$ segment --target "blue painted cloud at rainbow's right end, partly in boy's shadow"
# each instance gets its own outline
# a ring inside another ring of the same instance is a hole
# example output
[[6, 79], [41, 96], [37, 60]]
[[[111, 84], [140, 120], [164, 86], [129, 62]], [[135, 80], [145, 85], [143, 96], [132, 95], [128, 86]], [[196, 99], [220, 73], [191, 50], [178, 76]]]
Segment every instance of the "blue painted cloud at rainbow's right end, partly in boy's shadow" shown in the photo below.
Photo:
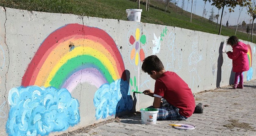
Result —
[[130, 95], [129, 83], [118, 79], [111, 84], [103, 84], [94, 95], [96, 119], [105, 119], [123, 111], [132, 110], [133, 99]]

